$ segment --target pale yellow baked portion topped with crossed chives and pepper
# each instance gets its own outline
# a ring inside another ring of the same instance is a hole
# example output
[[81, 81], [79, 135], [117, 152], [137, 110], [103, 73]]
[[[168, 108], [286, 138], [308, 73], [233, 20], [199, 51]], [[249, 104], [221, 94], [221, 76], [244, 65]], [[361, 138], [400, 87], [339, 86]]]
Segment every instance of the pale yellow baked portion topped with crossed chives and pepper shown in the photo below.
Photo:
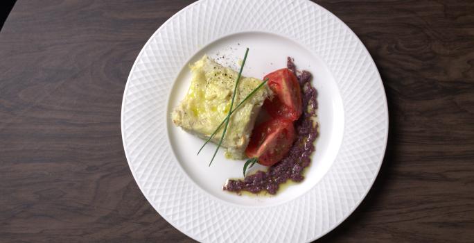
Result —
[[[190, 65], [190, 68], [192, 72], [191, 86], [186, 97], [173, 110], [171, 117], [176, 126], [207, 140], [227, 117], [238, 72], [223, 67], [206, 55]], [[247, 94], [262, 82], [258, 78], [241, 76], [234, 109], [240, 101], [247, 97]], [[263, 101], [271, 95], [267, 85], [263, 87], [231, 115], [227, 132], [222, 141], [222, 146], [226, 148], [225, 156], [227, 158], [246, 158], [245, 148], [249, 143], [255, 119]], [[219, 142], [223, 127], [213, 137], [212, 142]]]

